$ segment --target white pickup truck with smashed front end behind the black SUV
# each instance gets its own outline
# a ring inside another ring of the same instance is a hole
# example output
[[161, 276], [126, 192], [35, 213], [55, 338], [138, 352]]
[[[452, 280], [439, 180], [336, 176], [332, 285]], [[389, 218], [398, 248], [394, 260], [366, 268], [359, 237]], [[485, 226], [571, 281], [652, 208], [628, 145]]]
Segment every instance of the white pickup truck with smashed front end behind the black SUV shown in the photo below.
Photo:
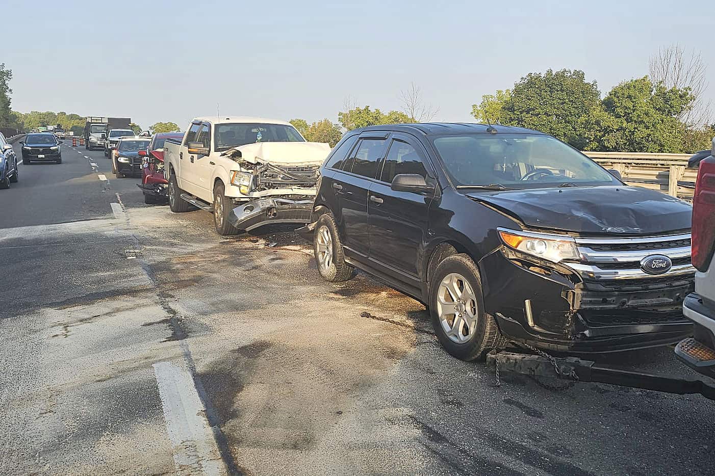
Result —
[[328, 144], [306, 142], [288, 122], [197, 117], [181, 141], [164, 142], [169, 207], [213, 212], [222, 235], [267, 223], [307, 223], [328, 153]]

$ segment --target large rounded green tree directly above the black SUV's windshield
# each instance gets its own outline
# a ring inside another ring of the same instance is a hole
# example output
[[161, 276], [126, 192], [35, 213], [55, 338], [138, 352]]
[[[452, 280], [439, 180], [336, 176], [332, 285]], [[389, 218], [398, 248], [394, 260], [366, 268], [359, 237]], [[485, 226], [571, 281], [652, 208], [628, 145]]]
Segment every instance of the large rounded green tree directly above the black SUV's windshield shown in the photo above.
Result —
[[587, 83], [583, 71], [529, 73], [514, 84], [505, 101], [503, 124], [538, 129], [581, 148], [587, 143], [583, 117], [600, 97], [596, 81]]

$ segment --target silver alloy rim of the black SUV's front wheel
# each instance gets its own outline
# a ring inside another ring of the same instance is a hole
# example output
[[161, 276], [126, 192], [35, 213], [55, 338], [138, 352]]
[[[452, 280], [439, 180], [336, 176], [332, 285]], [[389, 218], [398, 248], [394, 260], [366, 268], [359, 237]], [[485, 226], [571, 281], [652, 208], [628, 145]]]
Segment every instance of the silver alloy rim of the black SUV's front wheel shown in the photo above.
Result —
[[474, 335], [478, 319], [477, 298], [461, 274], [450, 273], [440, 282], [437, 312], [442, 329], [453, 342], [464, 344]]

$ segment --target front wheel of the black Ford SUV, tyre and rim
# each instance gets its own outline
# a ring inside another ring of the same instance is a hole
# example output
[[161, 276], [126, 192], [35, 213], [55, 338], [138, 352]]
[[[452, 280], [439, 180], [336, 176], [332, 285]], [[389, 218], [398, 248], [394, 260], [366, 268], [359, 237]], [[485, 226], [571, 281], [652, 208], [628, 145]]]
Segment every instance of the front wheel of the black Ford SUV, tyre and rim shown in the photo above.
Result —
[[446, 257], [432, 277], [432, 325], [447, 352], [459, 360], [476, 360], [503, 345], [494, 318], [484, 312], [479, 269], [468, 255]]

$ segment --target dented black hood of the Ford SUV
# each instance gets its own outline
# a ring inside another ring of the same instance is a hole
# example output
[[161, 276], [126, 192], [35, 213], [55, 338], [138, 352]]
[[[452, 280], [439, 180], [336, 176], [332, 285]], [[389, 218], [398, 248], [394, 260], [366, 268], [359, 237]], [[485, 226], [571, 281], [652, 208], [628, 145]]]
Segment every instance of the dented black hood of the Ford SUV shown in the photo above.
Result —
[[564, 187], [467, 193], [529, 227], [579, 234], [661, 234], [690, 229], [692, 207], [642, 187]]

